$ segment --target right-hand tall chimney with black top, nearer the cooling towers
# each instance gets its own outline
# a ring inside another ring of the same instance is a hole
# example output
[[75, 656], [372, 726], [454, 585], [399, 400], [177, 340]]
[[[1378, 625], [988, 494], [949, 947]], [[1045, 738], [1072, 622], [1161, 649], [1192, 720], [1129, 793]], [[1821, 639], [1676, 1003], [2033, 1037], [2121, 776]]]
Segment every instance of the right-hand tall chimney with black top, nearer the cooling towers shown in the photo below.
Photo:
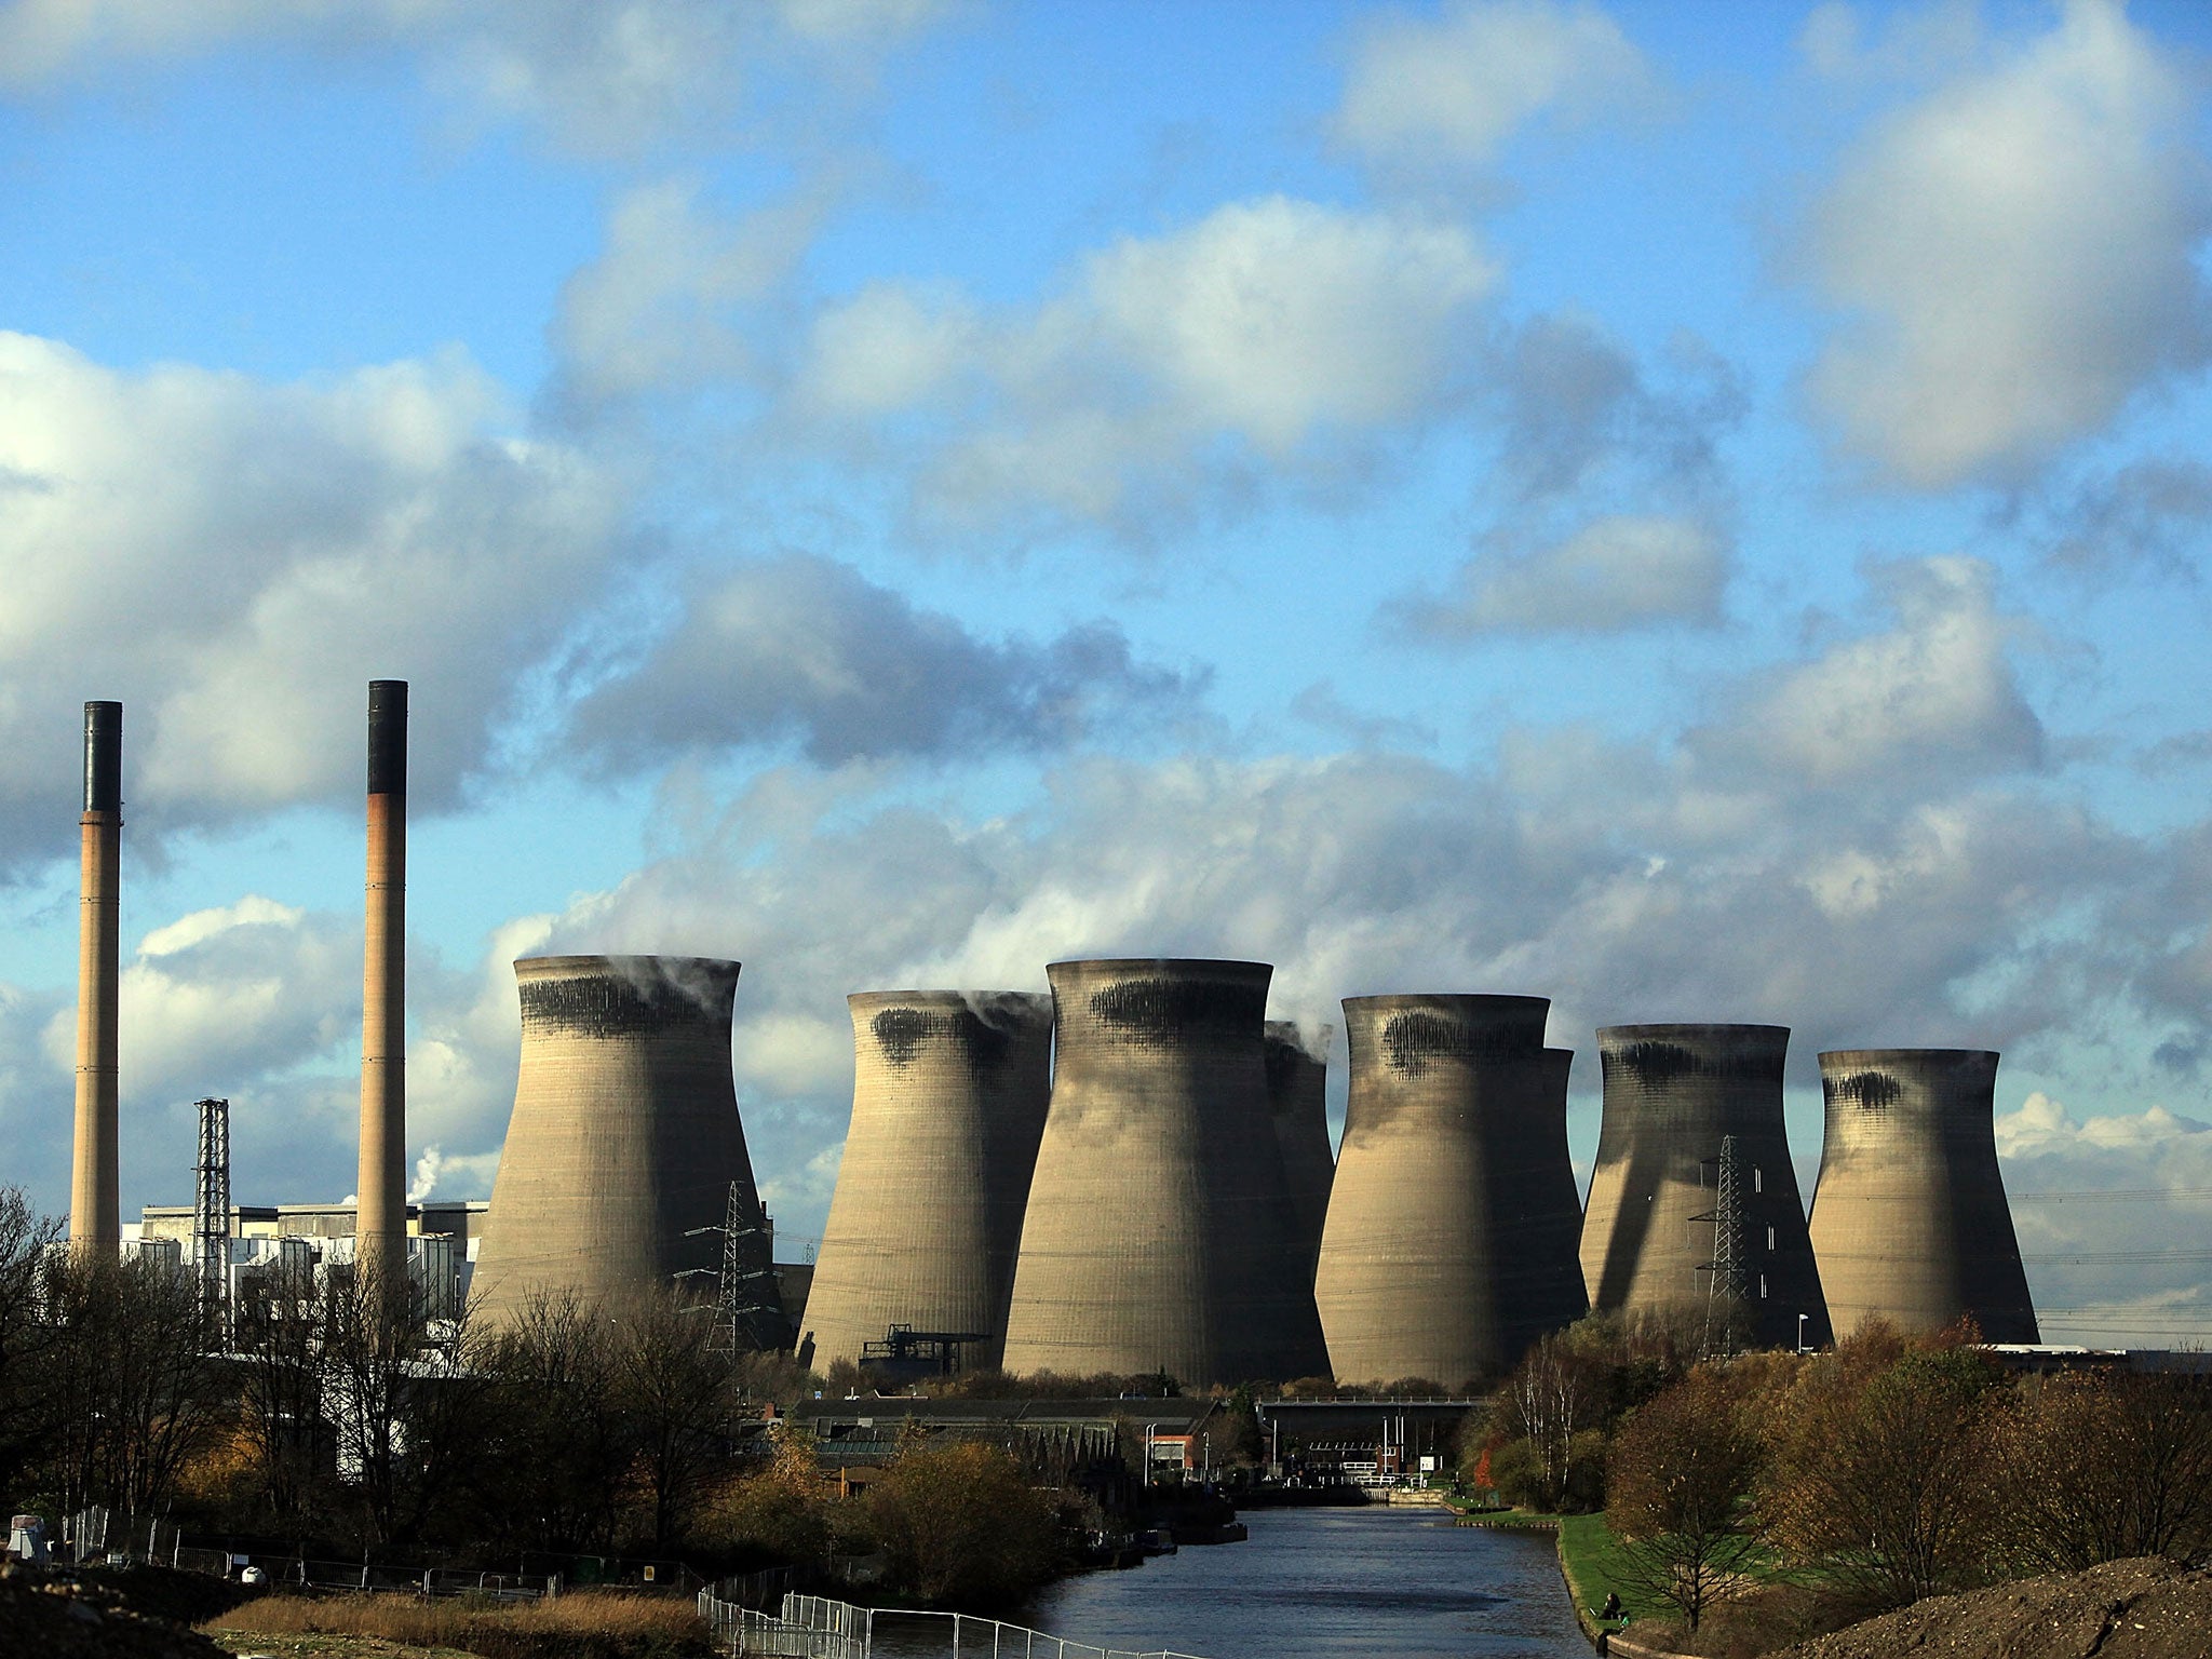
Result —
[[407, 1285], [407, 681], [369, 681], [369, 878], [361, 984], [361, 1272]]

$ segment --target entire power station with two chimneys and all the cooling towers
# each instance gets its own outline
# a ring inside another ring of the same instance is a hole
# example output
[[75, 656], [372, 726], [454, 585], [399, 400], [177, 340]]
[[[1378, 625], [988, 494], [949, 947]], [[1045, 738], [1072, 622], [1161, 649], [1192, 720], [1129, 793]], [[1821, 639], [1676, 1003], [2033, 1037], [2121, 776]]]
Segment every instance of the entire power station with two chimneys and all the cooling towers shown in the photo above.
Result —
[[[515, 1108], [489, 1214], [473, 1206], [482, 1232], [434, 1228], [425, 1206], [411, 1234], [407, 684], [369, 681], [367, 712], [358, 1199], [292, 1206], [321, 1217], [314, 1239], [285, 1232], [281, 1208], [232, 1208], [226, 1102], [201, 1102], [190, 1239], [210, 1301], [241, 1270], [307, 1252], [451, 1307], [473, 1243], [491, 1318], [540, 1292], [597, 1305], [681, 1283], [714, 1296], [732, 1345], [770, 1345], [792, 1336], [805, 1294], [823, 1365], [896, 1369], [929, 1349], [947, 1367], [1166, 1371], [1192, 1387], [1332, 1369], [1455, 1387], [1586, 1307], [1703, 1318], [1708, 1338], [1750, 1345], [1827, 1343], [1832, 1314], [1907, 1332], [1973, 1318], [1984, 1340], [2037, 1340], [1995, 1152], [1995, 1053], [1823, 1053], [1807, 1225], [1783, 1126], [1785, 1026], [1606, 1026], [1584, 1214], [1566, 1146], [1573, 1053], [1544, 1046], [1548, 1000], [1347, 998], [1336, 1157], [1327, 1064], [1265, 1020], [1263, 962], [1055, 962], [1048, 1000], [847, 998], [845, 1161], [812, 1292], [805, 1267], [779, 1292], [730, 1068], [739, 964], [524, 958]], [[119, 849], [122, 703], [93, 701], [69, 1234], [108, 1250], [124, 1248]], [[276, 1232], [241, 1232], [248, 1212]], [[146, 1214], [131, 1248], [181, 1263], [184, 1234], [157, 1237]]]

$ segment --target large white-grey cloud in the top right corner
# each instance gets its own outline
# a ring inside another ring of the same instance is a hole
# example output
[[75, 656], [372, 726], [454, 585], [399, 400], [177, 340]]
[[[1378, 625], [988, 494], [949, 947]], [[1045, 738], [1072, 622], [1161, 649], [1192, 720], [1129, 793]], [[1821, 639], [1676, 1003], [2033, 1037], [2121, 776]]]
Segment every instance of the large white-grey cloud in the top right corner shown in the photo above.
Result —
[[1812, 394], [1845, 451], [2015, 478], [2212, 349], [2185, 82], [2108, 0], [1885, 119], [1812, 221], [1845, 312]]

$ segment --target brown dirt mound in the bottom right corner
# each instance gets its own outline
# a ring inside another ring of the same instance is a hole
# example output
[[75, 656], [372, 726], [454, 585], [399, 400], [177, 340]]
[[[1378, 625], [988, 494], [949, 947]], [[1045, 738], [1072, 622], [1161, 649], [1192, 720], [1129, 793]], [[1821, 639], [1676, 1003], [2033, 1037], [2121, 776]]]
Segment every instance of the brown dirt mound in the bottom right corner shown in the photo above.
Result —
[[2212, 1573], [2106, 1562], [1938, 1595], [1772, 1659], [2212, 1659]]

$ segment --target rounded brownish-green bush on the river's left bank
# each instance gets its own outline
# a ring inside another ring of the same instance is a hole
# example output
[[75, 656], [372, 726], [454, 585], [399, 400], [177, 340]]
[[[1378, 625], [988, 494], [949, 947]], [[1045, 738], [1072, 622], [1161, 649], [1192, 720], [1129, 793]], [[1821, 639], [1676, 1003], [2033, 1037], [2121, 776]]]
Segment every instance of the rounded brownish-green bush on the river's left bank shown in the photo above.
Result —
[[865, 1506], [894, 1577], [920, 1601], [1004, 1606], [1060, 1568], [1057, 1504], [998, 1447], [909, 1444]]

